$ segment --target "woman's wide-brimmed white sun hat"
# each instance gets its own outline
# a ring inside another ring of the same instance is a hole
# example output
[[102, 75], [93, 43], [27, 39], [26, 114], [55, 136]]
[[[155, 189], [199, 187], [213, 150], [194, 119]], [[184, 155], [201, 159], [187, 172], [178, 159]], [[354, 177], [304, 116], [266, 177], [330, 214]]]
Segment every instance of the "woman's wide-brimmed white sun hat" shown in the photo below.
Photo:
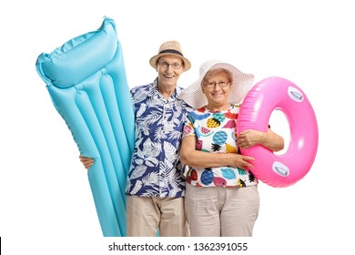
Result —
[[184, 89], [179, 98], [183, 99], [190, 107], [196, 109], [204, 107], [208, 104], [207, 98], [202, 93], [201, 82], [209, 70], [223, 68], [230, 71], [233, 75], [232, 85], [230, 89], [229, 102], [239, 104], [247, 95], [249, 89], [253, 86], [254, 76], [244, 74], [235, 66], [224, 61], [212, 59], [204, 62], [199, 67], [199, 78], [193, 84]]

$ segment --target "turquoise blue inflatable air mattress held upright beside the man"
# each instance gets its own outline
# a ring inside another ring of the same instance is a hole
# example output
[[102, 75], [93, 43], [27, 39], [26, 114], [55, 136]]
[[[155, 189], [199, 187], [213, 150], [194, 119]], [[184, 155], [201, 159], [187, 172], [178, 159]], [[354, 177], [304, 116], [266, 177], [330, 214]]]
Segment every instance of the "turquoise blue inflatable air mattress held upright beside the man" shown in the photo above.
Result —
[[80, 155], [95, 159], [87, 175], [103, 235], [126, 236], [125, 187], [135, 129], [114, 20], [106, 17], [96, 31], [39, 55], [35, 67]]

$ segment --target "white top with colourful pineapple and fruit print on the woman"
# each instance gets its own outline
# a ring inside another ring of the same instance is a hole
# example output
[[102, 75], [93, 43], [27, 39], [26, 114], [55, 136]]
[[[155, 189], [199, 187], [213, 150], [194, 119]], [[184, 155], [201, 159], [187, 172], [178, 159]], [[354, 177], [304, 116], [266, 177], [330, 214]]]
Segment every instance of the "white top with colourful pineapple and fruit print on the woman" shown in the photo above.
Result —
[[[194, 136], [196, 149], [209, 153], [237, 153], [236, 121], [239, 105], [231, 105], [227, 111], [209, 111], [201, 107], [188, 114], [183, 138]], [[198, 187], [247, 187], [258, 183], [249, 170], [234, 167], [184, 168], [189, 184]]]

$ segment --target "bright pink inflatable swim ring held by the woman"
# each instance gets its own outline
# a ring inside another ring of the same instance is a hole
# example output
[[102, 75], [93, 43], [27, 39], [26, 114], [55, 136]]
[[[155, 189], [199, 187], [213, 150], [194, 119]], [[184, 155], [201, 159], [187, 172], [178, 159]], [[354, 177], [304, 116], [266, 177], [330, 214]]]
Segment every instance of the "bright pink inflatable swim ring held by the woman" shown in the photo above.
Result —
[[255, 158], [253, 174], [269, 186], [282, 188], [302, 179], [311, 168], [318, 149], [318, 124], [309, 99], [289, 80], [269, 77], [249, 90], [240, 107], [237, 134], [247, 129], [267, 132], [273, 110], [289, 121], [289, 148], [282, 155], [263, 146], [240, 149]]

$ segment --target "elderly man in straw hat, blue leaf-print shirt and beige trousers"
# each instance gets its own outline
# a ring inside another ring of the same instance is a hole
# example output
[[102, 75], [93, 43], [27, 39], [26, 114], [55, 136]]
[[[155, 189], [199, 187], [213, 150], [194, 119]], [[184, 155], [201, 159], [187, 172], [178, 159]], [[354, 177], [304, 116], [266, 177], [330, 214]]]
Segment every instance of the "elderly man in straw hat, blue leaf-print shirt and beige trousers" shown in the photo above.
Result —
[[[185, 117], [191, 107], [178, 98], [179, 76], [191, 63], [177, 41], [163, 43], [149, 60], [157, 70], [150, 84], [133, 87], [136, 142], [127, 175], [127, 236], [188, 236], [185, 218], [185, 180], [178, 150]], [[92, 158], [80, 157], [86, 168]]]

